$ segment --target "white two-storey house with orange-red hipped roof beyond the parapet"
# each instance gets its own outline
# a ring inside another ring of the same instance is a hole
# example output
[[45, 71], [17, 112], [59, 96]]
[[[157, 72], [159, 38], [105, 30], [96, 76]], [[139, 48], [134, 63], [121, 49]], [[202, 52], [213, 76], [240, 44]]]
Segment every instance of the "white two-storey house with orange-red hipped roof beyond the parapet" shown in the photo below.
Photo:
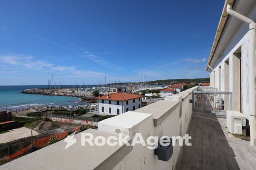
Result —
[[141, 107], [142, 96], [124, 92], [96, 97], [98, 113], [104, 115], [119, 115]]

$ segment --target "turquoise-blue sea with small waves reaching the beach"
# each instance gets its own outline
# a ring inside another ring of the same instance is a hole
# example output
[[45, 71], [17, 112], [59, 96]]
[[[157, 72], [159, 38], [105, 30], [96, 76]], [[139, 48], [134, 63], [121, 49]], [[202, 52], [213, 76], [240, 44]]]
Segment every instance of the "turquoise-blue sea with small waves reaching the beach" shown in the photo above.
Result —
[[[66, 85], [66, 87], [69, 87]], [[17, 110], [30, 106], [52, 105], [52, 106], [77, 106], [85, 105], [87, 102], [81, 101], [77, 97], [64, 96], [45, 96], [22, 94], [21, 91], [32, 88], [48, 88], [47, 85], [31, 85], [31, 86], [0, 86], [0, 111]]]

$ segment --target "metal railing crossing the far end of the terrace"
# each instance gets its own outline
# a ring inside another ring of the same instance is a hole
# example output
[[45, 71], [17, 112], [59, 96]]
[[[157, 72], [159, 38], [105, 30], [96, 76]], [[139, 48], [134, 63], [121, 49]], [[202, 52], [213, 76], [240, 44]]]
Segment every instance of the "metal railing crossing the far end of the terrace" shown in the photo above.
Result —
[[232, 92], [194, 91], [193, 95], [195, 110], [214, 112], [232, 110]]

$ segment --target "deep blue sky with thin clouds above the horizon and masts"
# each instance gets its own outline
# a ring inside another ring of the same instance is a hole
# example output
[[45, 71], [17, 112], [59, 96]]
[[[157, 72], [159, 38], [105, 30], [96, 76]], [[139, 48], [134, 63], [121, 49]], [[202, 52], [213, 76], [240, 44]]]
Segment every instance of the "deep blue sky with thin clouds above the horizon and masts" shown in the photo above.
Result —
[[1, 0], [0, 85], [209, 77], [223, 0]]

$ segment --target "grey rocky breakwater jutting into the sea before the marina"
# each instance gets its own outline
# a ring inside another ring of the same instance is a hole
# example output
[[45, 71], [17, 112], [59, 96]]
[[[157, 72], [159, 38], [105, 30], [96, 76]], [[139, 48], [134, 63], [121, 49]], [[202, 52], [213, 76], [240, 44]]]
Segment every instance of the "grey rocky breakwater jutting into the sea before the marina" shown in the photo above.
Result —
[[78, 92], [70, 89], [26, 89], [26, 90], [23, 90], [21, 93], [47, 95], [47, 96], [69, 96], [69, 97], [79, 97], [82, 99], [94, 98], [91, 93]]

